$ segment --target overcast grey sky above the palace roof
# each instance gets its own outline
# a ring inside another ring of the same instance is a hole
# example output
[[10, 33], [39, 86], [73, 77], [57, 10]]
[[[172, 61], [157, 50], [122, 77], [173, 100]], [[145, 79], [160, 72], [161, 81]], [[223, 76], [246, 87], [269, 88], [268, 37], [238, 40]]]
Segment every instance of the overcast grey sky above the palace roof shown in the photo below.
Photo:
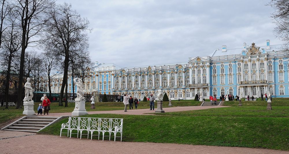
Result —
[[282, 44], [270, 0], [58, 0], [90, 21], [93, 61], [121, 67], [187, 62], [222, 45]]

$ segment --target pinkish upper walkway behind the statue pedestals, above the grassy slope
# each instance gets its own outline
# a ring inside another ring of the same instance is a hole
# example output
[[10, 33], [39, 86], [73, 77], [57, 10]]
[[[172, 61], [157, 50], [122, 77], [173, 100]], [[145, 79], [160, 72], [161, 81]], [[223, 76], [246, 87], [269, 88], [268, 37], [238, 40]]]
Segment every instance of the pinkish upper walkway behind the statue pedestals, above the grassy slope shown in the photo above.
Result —
[[[189, 111], [189, 110], [202, 110], [202, 109], [209, 109], [209, 108], [223, 108], [228, 106], [178, 106], [178, 107], [170, 107], [170, 108], [163, 108], [165, 112], [177, 112], [177, 111]], [[155, 108], [155, 110], [157, 110]], [[113, 111], [89, 111], [88, 114], [130, 114], [130, 115], [142, 115], [146, 113], [155, 113], [155, 110], [149, 109], [134, 109], [134, 110], [113, 110]], [[153, 115], [153, 114], [150, 114]], [[38, 115], [41, 116], [41, 115]], [[43, 115], [42, 116], [47, 116]], [[60, 117], [60, 116], [71, 116], [71, 112], [66, 113], [49, 113], [49, 117]]]

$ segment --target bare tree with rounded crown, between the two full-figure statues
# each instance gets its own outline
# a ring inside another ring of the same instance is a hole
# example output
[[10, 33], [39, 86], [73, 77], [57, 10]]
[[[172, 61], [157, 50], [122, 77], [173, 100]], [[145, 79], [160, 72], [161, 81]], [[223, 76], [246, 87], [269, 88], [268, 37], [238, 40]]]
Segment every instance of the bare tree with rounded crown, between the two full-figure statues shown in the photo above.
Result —
[[[72, 9], [71, 4], [56, 5], [50, 13], [52, 20], [47, 24], [47, 40], [50, 46], [58, 49], [58, 55], [64, 58], [64, 71], [60, 91], [59, 106], [63, 106], [62, 98], [68, 80], [68, 67], [71, 52], [88, 48], [87, 31], [89, 21]], [[67, 96], [67, 90], [65, 91]], [[66, 99], [67, 100], [67, 99]]]

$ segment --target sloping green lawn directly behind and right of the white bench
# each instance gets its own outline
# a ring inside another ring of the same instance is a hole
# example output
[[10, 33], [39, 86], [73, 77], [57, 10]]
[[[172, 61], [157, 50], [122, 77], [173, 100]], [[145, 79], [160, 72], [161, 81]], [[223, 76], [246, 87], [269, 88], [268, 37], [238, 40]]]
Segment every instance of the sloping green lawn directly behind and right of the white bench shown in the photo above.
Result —
[[[91, 114], [85, 117], [123, 118], [125, 142], [289, 150], [289, 107], [273, 109], [242, 106], [171, 112], [160, 116]], [[61, 124], [67, 121], [63, 119], [38, 133], [59, 135]]]

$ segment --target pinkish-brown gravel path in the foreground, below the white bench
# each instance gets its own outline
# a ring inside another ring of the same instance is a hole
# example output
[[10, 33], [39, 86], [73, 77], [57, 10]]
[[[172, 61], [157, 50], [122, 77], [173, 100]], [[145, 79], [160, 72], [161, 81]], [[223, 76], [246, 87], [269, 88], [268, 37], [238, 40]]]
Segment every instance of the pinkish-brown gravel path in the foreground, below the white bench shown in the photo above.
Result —
[[[7, 131], [8, 132], [8, 131]], [[240, 147], [215, 147], [186, 144], [144, 142], [114, 142], [66, 138], [51, 135], [32, 135], [0, 140], [0, 153], [278, 153], [289, 151]], [[4, 148], [5, 147], [5, 148]], [[47, 151], [47, 152], [45, 152]]]

